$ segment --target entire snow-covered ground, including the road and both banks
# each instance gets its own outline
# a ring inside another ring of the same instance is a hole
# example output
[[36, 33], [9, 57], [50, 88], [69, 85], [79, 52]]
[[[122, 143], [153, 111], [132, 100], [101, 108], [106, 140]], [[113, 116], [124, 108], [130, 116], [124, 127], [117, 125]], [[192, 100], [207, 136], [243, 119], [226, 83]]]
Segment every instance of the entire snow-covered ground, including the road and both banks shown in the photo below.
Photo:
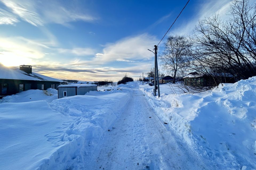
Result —
[[107, 89], [1, 99], [0, 169], [256, 168], [256, 77], [193, 95], [163, 84], [160, 98], [137, 82]]

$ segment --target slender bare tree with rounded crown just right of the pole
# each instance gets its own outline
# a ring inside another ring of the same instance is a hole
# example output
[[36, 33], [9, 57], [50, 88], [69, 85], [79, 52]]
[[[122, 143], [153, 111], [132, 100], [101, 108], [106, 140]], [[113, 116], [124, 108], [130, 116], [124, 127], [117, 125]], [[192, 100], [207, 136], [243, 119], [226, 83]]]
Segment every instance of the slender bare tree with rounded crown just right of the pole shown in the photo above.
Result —
[[188, 64], [189, 42], [182, 36], [170, 36], [165, 43], [163, 55], [159, 56], [162, 66], [173, 74], [175, 78]]

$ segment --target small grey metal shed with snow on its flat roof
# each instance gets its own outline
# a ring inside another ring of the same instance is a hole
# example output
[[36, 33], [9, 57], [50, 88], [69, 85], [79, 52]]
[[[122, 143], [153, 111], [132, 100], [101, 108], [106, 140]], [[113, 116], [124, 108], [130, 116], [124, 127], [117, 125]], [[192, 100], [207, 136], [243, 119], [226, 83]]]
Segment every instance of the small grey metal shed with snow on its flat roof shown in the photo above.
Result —
[[58, 99], [62, 97], [85, 95], [89, 91], [97, 91], [97, 84], [65, 84], [58, 86]]

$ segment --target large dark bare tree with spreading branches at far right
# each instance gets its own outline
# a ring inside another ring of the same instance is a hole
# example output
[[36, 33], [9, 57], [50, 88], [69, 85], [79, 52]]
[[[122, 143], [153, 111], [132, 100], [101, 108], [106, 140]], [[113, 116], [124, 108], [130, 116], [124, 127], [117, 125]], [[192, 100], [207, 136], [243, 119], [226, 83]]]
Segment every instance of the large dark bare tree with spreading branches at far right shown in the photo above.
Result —
[[190, 36], [191, 67], [212, 76], [216, 85], [230, 75], [237, 80], [256, 75], [256, 5], [240, 0], [230, 7], [229, 20], [218, 15], [205, 18]]

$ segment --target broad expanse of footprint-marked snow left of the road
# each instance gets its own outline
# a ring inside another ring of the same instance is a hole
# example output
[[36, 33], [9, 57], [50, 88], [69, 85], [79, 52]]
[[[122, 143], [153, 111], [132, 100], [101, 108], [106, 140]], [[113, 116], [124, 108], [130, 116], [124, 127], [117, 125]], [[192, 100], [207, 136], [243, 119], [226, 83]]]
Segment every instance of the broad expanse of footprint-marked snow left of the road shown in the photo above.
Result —
[[[130, 94], [125, 91], [64, 97], [51, 103], [41, 100], [0, 104], [0, 169], [84, 166], [84, 155], [129, 100]], [[24, 94], [30, 92], [14, 95], [9, 101], [27, 101], [30, 96]], [[37, 90], [33, 92], [40, 98]]]

